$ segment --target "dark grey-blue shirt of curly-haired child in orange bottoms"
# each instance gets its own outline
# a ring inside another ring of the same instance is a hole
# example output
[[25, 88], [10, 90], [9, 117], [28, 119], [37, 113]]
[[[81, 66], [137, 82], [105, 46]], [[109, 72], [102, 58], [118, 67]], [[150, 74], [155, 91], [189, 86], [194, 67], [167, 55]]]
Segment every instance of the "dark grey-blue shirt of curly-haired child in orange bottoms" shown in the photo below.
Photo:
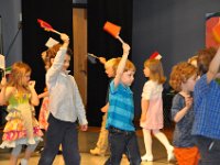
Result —
[[[176, 113], [178, 113], [183, 108], [186, 107], [185, 98], [177, 94], [173, 98], [172, 103], [172, 119], [174, 120]], [[193, 107], [187, 111], [187, 113], [179, 120], [174, 130], [173, 143], [176, 147], [191, 147], [195, 146], [191, 136], [191, 128], [194, 122], [194, 111]]]

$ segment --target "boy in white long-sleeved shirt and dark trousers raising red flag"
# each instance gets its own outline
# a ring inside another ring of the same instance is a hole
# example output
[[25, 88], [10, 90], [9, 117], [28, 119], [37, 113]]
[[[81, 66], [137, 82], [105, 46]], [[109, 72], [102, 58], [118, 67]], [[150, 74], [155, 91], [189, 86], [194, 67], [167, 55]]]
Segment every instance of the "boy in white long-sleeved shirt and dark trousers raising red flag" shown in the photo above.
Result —
[[46, 85], [50, 96], [50, 117], [46, 143], [41, 155], [40, 165], [51, 165], [63, 147], [65, 164], [79, 165], [78, 134], [76, 120], [78, 118], [81, 130], [87, 130], [85, 108], [73, 76], [68, 75], [72, 52], [68, 48], [69, 37], [62, 33], [63, 45], [51, 58], [52, 66], [46, 73]]

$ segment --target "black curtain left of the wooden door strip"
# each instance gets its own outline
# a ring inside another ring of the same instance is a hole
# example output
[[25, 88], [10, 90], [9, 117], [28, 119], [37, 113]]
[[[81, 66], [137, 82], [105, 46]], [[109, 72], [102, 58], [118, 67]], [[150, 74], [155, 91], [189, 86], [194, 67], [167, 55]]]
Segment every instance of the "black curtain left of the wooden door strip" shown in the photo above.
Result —
[[[36, 80], [36, 91], [45, 87], [45, 69], [41, 53], [48, 37], [57, 41], [59, 35], [46, 32], [37, 23], [37, 19], [48, 22], [55, 30], [73, 36], [73, 1], [72, 0], [23, 0], [22, 1], [22, 37], [23, 62], [32, 67], [32, 79]], [[70, 43], [72, 45], [72, 43]], [[72, 46], [70, 46], [72, 47]], [[72, 62], [73, 64], [73, 62]], [[73, 66], [70, 66], [73, 69]], [[57, 94], [58, 95], [58, 94]], [[36, 110], [38, 110], [36, 108]]]

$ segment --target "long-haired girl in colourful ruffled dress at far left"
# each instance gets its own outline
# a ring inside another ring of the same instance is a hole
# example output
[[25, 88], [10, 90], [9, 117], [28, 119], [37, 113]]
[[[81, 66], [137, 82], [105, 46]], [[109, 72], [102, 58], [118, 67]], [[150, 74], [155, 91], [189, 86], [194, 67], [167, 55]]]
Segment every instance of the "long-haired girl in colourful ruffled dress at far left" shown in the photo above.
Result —
[[8, 102], [9, 114], [1, 147], [13, 147], [10, 157], [11, 165], [16, 165], [22, 144], [28, 145], [25, 156], [21, 161], [22, 165], [26, 165], [43, 135], [32, 114], [33, 106], [38, 105], [38, 98], [34, 89], [35, 81], [30, 81], [30, 66], [19, 62], [12, 66], [8, 85], [6, 85], [6, 78], [2, 79], [0, 103]]

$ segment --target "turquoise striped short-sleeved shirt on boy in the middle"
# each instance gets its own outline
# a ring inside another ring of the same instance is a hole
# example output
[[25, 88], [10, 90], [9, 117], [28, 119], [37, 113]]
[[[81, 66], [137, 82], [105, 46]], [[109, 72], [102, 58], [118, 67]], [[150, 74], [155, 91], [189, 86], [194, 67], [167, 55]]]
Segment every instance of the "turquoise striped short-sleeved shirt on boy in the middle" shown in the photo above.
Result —
[[122, 84], [114, 88], [114, 81], [112, 80], [110, 82], [107, 129], [114, 127], [124, 131], [134, 131], [133, 119], [133, 92]]

